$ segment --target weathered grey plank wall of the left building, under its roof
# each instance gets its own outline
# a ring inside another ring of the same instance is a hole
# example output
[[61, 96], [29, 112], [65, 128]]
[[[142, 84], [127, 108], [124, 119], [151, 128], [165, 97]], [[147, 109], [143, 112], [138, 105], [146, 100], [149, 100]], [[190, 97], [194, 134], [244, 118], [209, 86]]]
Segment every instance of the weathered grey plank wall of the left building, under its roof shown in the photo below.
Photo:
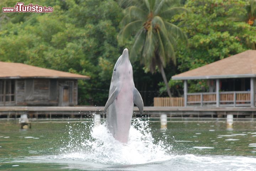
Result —
[[[55, 87], [53, 87], [54, 83], [50, 84], [52, 80], [56, 83]], [[53, 90], [50, 90], [51, 87]], [[16, 79], [14, 102], [0, 103], [0, 106], [61, 106], [59, 105], [59, 89], [63, 87], [68, 87], [69, 92], [69, 100], [65, 106], [77, 105], [77, 80]]]

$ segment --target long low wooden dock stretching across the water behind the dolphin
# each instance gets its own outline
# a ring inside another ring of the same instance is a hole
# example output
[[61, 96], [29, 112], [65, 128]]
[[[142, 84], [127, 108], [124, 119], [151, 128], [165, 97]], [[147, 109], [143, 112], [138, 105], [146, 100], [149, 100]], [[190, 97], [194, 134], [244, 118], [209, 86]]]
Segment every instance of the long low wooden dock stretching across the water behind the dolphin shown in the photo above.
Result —
[[[30, 118], [71, 117], [82, 118], [101, 114], [105, 117], [103, 106], [71, 106], [71, 107], [43, 107], [43, 106], [6, 106], [0, 107], [0, 118], [18, 118], [27, 113]], [[159, 117], [167, 114], [169, 117], [219, 117], [233, 114], [242, 118], [256, 118], [256, 107], [144, 107], [144, 116]], [[134, 107], [134, 116], [140, 116], [139, 109]]]

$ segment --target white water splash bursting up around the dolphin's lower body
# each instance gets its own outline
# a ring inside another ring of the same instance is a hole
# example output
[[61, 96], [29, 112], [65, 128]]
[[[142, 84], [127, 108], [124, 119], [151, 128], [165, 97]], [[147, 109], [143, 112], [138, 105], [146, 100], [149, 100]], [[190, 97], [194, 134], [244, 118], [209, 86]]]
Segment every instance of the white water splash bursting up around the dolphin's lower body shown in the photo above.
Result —
[[[79, 159], [102, 164], [145, 164], [166, 161], [172, 146], [165, 140], [155, 140], [148, 121], [136, 118], [130, 128], [128, 143], [113, 138], [105, 123], [94, 127], [93, 124], [80, 124], [82, 130], [68, 125], [69, 142], [60, 149], [63, 159]], [[56, 157], [56, 156], [55, 156]]]

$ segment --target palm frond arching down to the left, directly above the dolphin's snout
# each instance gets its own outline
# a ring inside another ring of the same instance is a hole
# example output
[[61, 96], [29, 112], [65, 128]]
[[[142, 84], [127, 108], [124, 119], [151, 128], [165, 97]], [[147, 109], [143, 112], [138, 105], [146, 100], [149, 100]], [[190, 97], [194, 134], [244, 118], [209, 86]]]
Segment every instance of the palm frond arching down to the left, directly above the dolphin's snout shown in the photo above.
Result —
[[143, 26], [142, 20], [136, 20], [133, 22], [130, 22], [124, 28], [119, 32], [117, 39], [120, 44], [123, 44], [124, 39], [130, 38], [132, 33], [136, 30], [138, 30], [139, 27]]

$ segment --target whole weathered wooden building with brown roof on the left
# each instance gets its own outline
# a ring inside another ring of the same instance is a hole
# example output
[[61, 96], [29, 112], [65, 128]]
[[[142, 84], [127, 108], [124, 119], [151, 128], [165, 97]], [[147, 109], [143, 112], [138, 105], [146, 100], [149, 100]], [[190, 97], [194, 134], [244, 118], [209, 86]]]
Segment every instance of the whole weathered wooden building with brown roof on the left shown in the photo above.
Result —
[[89, 76], [0, 62], [0, 106], [74, 106], [78, 79]]

